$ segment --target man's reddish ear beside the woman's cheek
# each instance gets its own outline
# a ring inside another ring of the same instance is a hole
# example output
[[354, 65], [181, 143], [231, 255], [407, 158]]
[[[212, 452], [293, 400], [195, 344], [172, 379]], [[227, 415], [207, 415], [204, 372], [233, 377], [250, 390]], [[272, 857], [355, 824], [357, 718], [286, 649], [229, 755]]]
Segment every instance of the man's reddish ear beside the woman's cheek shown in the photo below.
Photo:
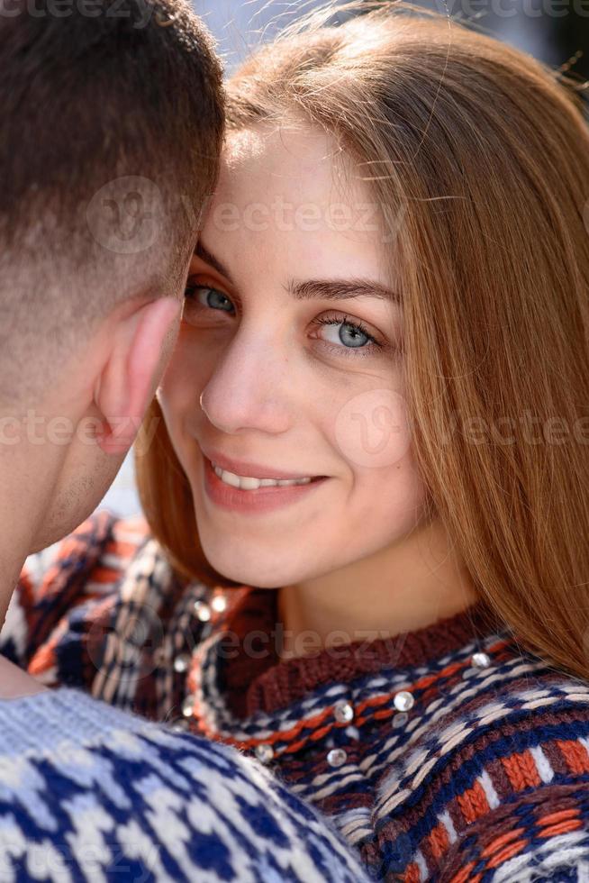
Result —
[[95, 384], [103, 417], [97, 443], [105, 453], [124, 454], [135, 441], [173, 350], [181, 306], [177, 298], [159, 297], [117, 319]]

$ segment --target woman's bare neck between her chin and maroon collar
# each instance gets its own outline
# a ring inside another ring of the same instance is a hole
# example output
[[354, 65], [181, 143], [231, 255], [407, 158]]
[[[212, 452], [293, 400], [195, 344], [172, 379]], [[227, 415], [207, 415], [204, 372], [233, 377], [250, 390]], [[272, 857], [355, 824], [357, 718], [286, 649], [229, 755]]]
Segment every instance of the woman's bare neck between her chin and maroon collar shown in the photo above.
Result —
[[278, 590], [283, 659], [392, 638], [460, 613], [478, 596], [438, 520], [325, 576]]

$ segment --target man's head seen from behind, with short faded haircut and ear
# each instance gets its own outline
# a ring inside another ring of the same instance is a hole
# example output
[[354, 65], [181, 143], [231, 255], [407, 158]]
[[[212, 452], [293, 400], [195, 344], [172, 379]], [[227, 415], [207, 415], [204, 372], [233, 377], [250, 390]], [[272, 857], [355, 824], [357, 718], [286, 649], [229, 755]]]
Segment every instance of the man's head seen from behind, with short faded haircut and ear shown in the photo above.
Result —
[[0, 69], [0, 518], [33, 501], [41, 548], [101, 499], [165, 367], [222, 73], [182, 0], [0, 0]]

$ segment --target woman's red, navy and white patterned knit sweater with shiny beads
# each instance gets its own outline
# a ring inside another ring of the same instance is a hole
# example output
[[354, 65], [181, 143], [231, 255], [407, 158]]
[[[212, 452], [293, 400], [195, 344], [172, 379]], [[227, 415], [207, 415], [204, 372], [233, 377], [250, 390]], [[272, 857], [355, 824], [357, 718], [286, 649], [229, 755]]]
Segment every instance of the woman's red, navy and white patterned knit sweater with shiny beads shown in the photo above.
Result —
[[2, 649], [50, 686], [256, 753], [371, 878], [589, 880], [589, 685], [482, 602], [393, 640], [280, 661], [276, 593], [182, 584], [140, 525], [94, 517]]

